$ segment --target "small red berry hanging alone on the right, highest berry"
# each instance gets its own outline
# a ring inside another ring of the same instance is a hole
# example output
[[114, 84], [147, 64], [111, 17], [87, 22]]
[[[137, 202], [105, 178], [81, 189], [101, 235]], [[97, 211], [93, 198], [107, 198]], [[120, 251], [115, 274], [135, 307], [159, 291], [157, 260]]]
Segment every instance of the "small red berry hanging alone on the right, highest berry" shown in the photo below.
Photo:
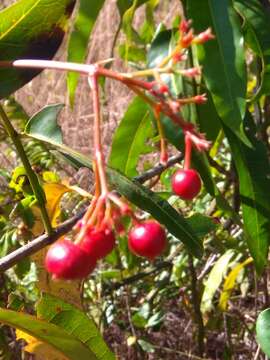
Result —
[[192, 200], [199, 194], [201, 186], [201, 179], [196, 170], [180, 169], [173, 174], [173, 192], [184, 200]]

